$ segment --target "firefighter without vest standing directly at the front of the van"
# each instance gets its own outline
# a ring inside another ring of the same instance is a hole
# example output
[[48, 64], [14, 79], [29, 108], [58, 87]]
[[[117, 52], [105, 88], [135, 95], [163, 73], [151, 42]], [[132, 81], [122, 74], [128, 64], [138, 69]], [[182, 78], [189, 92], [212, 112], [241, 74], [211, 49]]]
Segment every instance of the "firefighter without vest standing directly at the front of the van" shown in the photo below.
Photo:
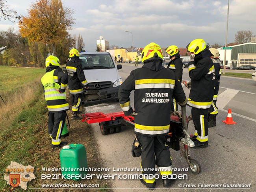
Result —
[[88, 89], [89, 85], [83, 73], [78, 50], [71, 49], [69, 57], [71, 60], [67, 63], [66, 70], [69, 79], [69, 92], [72, 94], [72, 119], [78, 120], [82, 119], [78, 113], [84, 98], [83, 91]]

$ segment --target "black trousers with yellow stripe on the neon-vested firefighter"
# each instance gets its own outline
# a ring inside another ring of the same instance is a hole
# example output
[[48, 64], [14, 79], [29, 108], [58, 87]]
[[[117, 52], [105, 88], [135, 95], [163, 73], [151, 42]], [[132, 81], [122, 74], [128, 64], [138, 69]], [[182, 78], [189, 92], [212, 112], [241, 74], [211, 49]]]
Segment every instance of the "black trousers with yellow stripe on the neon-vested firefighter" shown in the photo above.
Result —
[[59, 145], [61, 142], [61, 132], [67, 116], [66, 111], [55, 113], [49, 112], [48, 116], [48, 133], [52, 138], [52, 145]]

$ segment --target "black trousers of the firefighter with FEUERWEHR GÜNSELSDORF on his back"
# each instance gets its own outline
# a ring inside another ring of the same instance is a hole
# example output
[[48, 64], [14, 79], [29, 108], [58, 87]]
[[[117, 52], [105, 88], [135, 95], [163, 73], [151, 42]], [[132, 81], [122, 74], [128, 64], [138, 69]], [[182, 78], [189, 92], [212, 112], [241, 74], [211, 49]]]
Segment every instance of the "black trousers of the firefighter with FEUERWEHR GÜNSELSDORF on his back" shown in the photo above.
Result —
[[143, 180], [146, 183], [154, 183], [155, 179], [150, 178], [148, 174], [155, 174], [155, 165], [158, 166], [161, 175], [171, 175], [172, 159], [169, 146], [166, 145], [165, 135], [156, 137], [147, 137], [137, 134], [137, 139], [141, 144], [141, 168], [142, 174], [145, 174]]

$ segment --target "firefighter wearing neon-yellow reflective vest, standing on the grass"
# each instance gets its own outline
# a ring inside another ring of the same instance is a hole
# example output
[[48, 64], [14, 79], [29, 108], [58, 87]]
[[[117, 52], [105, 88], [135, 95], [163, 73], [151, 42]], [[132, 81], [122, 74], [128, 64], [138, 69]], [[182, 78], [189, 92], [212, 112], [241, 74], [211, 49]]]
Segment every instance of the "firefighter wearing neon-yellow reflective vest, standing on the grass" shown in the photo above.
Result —
[[60, 140], [65, 125], [66, 111], [69, 103], [66, 101], [67, 75], [59, 67], [58, 57], [50, 55], [45, 60], [46, 73], [41, 78], [44, 87], [45, 100], [48, 108], [48, 133], [52, 138], [52, 148], [67, 145]]

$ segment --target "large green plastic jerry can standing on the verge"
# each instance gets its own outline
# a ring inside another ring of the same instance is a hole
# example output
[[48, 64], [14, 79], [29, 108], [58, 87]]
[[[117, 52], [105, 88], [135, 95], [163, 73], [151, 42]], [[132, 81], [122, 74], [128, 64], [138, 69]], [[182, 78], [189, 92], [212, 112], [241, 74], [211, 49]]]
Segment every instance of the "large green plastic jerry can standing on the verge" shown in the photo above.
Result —
[[79, 181], [85, 178], [88, 164], [86, 150], [82, 144], [64, 146], [59, 153], [59, 157], [61, 172], [65, 179]]

